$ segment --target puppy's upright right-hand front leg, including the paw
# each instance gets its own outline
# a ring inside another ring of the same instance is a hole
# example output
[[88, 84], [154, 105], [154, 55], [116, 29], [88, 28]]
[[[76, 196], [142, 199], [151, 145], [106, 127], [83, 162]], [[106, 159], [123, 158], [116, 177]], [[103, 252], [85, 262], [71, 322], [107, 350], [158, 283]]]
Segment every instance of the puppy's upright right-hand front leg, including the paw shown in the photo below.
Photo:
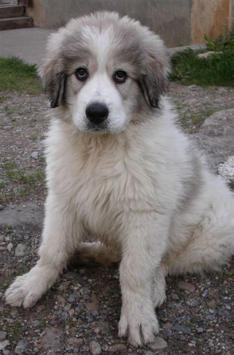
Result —
[[168, 218], [156, 213], [128, 215], [119, 269], [122, 309], [118, 335], [128, 335], [133, 346], [152, 342], [159, 330], [152, 284], [155, 269], [165, 252], [168, 225]]

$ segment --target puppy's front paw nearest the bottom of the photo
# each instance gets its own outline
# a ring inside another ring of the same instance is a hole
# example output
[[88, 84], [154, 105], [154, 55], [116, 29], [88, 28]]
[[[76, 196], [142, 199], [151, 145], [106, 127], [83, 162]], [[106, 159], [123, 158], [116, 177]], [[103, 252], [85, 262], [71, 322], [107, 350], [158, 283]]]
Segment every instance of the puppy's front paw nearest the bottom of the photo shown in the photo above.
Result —
[[118, 336], [128, 337], [128, 342], [134, 346], [143, 346], [152, 343], [159, 331], [155, 311], [147, 309], [143, 304], [131, 305], [129, 309], [121, 310], [118, 323]]

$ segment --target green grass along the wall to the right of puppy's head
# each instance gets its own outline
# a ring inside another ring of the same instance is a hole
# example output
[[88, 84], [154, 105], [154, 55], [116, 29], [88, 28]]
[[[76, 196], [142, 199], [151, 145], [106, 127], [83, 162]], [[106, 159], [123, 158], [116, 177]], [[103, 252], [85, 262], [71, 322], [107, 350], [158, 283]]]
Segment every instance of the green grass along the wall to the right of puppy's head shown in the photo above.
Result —
[[172, 58], [172, 81], [185, 85], [217, 85], [234, 87], [234, 33], [211, 40], [206, 46], [214, 54], [200, 58], [192, 49], [175, 53]]

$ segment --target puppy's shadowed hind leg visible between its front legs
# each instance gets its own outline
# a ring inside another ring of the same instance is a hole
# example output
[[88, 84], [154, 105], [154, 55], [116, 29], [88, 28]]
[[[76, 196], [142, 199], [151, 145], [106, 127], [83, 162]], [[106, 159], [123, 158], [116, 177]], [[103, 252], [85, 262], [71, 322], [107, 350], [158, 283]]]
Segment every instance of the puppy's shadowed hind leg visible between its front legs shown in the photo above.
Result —
[[120, 254], [101, 242], [81, 243], [78, 253], [72, 258], [72, 263], [76, 264], [99, 263], [105, 266], [118, 261]]

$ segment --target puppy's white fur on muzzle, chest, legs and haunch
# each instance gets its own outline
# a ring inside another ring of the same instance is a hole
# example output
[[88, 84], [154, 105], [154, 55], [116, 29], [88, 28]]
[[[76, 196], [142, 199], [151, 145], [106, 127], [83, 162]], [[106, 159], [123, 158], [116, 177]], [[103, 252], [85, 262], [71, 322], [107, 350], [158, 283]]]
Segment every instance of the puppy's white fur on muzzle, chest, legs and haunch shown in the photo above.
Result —
[[[84, 132], [85, 107], [97, 91], [113, 107], [113, 131], [121, 132]], [[78, 129], [54, 119], [46, 139], [48, 197], [40, 259], [16, 278], [5, 299], [12, 306], [35, 304], [77, 250], [86, 260], [121, 260], [119, 336], [143, 345], [158, 332], [154, 308], [165, 299], [165, 276], [217, 269], [234, 253], [233, 196], [200, 159], [199, 190], [180, 208], [194, 147], [174, 124], [167, 99], [161, 100], [162, 115], [155, 111], [128, 124], [101, 66], [72, 102]], [[87, 228], [103, 244], [80, 244]]]

